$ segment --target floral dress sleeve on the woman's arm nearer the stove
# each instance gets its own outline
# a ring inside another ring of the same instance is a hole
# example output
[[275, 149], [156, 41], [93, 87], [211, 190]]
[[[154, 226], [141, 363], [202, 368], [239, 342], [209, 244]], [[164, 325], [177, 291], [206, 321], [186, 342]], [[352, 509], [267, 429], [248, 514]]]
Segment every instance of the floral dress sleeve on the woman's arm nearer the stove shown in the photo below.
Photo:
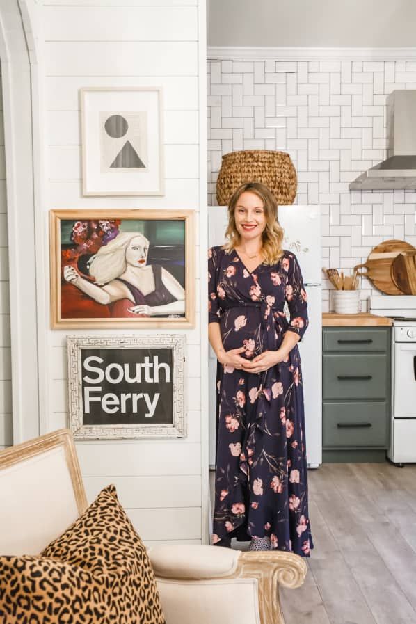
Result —
[[296, 256], [293, 253], [288, 254], [285, 262], [287, 266], [285, 299], [290, 313], [289, 326], [286, 331], [294, 332], [302, 339], [309, 325], [307, 294], [303, 286], [301, 267]]

